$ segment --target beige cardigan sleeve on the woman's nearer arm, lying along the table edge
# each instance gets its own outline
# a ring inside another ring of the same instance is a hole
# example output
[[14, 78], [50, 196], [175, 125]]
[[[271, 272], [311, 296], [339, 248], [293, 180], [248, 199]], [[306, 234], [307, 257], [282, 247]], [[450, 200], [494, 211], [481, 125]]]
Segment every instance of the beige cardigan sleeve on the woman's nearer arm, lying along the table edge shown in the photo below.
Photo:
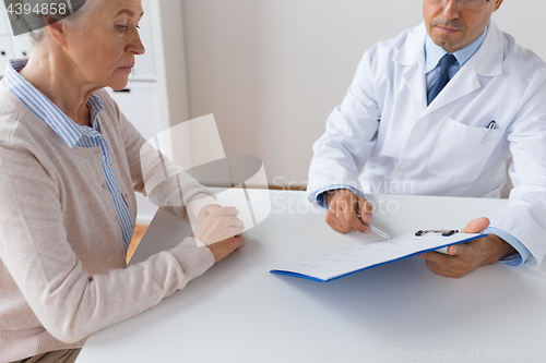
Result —
[[[143, 263], [90, 275], [71, 246], [78, 241], [68, 240], [67, 228], [79, 226], [63, 225], [59, 185], [36, 156], [0, 142], [0, 259], [41, 325], [62, 342], [142, 313], [214, 264], [209, 249], [187, 238]], [[92, 216], [81, 210], [81, 223]], [[94, 238], [105, 235], [96, 230]]]

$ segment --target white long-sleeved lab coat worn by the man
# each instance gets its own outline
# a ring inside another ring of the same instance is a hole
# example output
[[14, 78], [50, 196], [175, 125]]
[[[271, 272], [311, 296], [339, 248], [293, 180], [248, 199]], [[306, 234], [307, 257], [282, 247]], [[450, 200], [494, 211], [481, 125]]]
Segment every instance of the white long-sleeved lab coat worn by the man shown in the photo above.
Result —
[[520, 240], [536, 266], [546, 254], [545, 63], [491, 21], [482, 47], [427, 107], [425, 38], [420, 24], [364, 55], [313, 145], [309, 197], [332, 185], [499, 197], [512, 155], [514, 189], [490, 227]]

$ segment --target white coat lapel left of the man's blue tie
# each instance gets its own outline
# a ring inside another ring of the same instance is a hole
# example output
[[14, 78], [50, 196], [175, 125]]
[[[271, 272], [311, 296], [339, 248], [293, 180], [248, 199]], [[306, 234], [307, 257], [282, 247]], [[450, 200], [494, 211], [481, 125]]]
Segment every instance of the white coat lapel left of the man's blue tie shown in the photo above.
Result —
[[404, 66], [403, 78], [417, 101], [418, 114], [427, 108], [427, 86], [425, 78], [425, 23], [412, 33], [402, 48], [394, 55], [393, 61]]

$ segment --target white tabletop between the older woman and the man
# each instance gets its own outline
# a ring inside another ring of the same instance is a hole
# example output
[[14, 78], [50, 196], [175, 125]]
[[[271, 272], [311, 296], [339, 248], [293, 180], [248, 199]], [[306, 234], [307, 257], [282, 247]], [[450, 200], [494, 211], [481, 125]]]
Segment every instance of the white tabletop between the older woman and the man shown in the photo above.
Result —
[[[371, 199], [373, 225], [391, 235], [461, 229], [507, 203]], [[273, 275], [274, 267], [380, 238], [337, 234], [304, 193], [271, 192], [271, 201], [272, 214], [246, 233], [245, 249], [155, 308], [93, 335], [78, 363], [545, 361], [544, 265], [496, 264], [450, 279], [412, 257], [328, 283]], [[187, 231], [185, 222], [159, 210], [134, 258], [169, 249]]]

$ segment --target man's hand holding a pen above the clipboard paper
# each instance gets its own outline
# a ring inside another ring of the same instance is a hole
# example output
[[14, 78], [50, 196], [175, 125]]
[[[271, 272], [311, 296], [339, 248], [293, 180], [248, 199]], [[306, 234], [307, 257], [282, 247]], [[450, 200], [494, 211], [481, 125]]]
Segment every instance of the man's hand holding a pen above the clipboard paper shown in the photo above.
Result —
[[340, 233], [359, 231], [369, 233], [370, 229], [357, 217], [361, 214], [365, 222], [371, 222], [372, 208], [368, 202], [349, 190], [340, 189], [328, 192], [327, 203], [330, 205], [327, 213], [327, 223]]

